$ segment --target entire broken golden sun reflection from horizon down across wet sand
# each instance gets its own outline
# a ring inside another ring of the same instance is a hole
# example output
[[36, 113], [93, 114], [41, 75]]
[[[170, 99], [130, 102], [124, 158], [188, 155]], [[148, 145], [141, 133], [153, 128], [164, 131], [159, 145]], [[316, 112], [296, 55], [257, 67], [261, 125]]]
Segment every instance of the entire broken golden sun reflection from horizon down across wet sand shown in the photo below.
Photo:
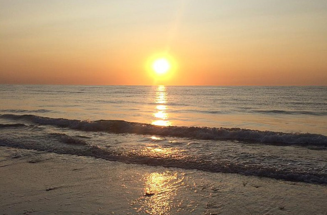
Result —
[[[156, 87], [155, 92], [155, 112], [153, 113], [153, 125], [170, 126], [168, 120], [168, 100], [167, 90], [164, 85]], [[152, 158], [172, 158], [180, 154], [178, 149], [165, 148], [161, 144], [156, 144], [157, 141], [165, 141], [164, 138], [151, 136], [151, 142], [142, 154]], [[176, 203], [174, 198], [177, 194], [178, 187], [183, 184], [183, 176], [178, 176], [177, 173], [152, 172], [143, 175], [144, 181], [144, 197], [143, 203], [139, 207], [135, 207], [136, 212], [143, 211], [151, 215], [169, 215], [172, 209], [178, 209], [180, 203]]]

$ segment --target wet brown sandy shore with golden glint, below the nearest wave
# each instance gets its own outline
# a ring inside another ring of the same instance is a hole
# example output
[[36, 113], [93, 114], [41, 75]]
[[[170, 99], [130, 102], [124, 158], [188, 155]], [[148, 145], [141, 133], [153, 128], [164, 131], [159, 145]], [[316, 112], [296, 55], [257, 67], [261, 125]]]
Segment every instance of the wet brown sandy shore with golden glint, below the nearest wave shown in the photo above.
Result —
[[0, 214], [327, 214], [327, 187], [0, 147]]

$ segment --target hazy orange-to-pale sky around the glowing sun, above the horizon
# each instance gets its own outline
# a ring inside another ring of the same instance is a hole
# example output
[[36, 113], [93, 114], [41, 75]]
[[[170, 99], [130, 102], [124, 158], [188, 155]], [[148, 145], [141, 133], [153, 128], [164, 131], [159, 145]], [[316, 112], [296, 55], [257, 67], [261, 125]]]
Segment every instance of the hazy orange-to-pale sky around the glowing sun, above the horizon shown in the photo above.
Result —
[[0, 84], [327, 85], [327, 1], [0, 0]]

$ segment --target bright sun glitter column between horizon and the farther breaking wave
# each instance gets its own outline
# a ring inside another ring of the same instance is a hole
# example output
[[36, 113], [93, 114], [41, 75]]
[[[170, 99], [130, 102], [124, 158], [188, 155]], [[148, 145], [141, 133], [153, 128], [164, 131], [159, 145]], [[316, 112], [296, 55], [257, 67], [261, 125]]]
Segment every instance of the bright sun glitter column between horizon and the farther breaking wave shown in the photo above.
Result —
[[156, 120], [152, 121], [153, 125], [160, 125], [160, 126], [170, 126], [171, 122], [168, 120], [168, 110], [167, 104], [167, 91], [164, 85], [159, 85], [156, 89], [156, 99], [155, 103], [158, 105], [156, 106], [156, 112], [153, 116]]

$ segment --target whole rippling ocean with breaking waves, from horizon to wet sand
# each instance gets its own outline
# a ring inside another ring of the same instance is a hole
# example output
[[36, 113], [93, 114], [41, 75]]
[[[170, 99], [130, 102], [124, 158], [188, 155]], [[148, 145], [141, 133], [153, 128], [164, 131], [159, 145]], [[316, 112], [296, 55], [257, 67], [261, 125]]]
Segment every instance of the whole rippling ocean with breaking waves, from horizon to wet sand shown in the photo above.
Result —
[[327, 184], [326, 86], [0, 85], [0, 146]]

